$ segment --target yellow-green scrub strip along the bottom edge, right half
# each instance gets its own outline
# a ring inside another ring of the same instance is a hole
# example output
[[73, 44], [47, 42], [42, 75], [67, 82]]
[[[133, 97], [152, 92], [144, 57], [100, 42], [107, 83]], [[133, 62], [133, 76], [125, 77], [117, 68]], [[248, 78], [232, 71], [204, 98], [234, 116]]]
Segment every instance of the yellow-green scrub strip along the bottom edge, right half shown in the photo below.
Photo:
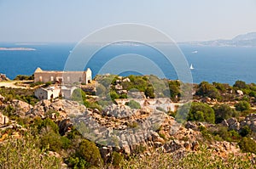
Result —
[[221, 157], [212, 154], [211, 149], [201, 147], [199, 151], [190, 152], [182, 157], [163, 153], [161, 151], [153, 152], [152, 155], [143, 157], [131, 157], [127, 161], [122, 161], [121, 166], [124, 169], [133, 168], [255, 168], [251, 161], [252, 155], [229, 155]]

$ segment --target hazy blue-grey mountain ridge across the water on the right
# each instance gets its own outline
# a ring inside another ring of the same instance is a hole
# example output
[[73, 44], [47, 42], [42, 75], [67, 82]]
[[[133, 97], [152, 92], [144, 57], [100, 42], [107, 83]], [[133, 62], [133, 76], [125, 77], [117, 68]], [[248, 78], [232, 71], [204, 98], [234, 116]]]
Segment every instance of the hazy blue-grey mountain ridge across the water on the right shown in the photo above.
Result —
[[206, 42], [182, 42], [180, 44], [194, 44], [201, 46], [256, 47], [256, 32], [238, 35], [230, 40], [218, 39]]

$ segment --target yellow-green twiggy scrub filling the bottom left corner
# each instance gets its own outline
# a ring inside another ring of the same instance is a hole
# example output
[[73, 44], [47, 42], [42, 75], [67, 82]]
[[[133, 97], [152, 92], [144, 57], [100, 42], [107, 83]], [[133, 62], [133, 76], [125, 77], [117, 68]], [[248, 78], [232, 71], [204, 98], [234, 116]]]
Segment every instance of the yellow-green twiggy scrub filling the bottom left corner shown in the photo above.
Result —
[[37, 147], [37, 138], [25, 136], [1, 143], [0, 168], [60, 168], [61, 160]]

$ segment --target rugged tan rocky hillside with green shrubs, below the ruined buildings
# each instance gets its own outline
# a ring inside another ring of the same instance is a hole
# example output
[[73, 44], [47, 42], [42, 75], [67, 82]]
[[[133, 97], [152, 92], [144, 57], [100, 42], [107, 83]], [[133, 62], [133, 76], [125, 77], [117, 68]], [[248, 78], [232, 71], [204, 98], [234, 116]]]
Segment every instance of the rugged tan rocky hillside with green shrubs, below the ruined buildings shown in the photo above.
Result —
[[[79, 149], [85, 144], [84, 138], [96, 143], [91, 153], [96, 155], [98, 151], [100, 156], [95, 158], [101, 159], [105, 165], [113, 164], [113, 158], [139, 155], [143, 160], [155, 152], [181, 158], [190, 153], [200, 153], [202, 147], [211, 150], [212, 157], [247, 155], [243, 153], [244, 149], [239, 148], [243, 146], [241, 141], [236, 141], [236, 137], [241, 137], [236, 133], [246, 132], [246, 129], [255, 144], [255, 114], [241, 120], [232, 117], [221, 124], [188, 121], [182, 125], [166, 112], [148, 106], [136, 110], [124, 104], [110, 104], [103, 110], [97, 110], [66, 99], [42, 100], [34, 106], [17, 99], [5, 102], [3, 96], [0, 96], [0, 101], [0, 144], [13, 138], [26, 138], [24, 133], [35, 128], [40, 138], [39, 148], [48, 149], [49, 155], [61, 159], [63, 168], [81, 166], [82, 161], [88, 161], [79, 154]], [[219, 132], [218, 128], [227, 128], [227, 131]], [[233, 136], [221, 135], [230, 133]], [[235, 138], [234, 141], [225, 141], [224, 137]], [[61, 140], [58, 145], [55, 144], [57, 140]], [[77, 163], [74, 162], [76, 158]], [[249, 157], [249, 161], [253, 165], [255, 155]], [[119, 161], [114, 165], [120, 164]], [[92, 161], [90, 165], [97, 166]]]

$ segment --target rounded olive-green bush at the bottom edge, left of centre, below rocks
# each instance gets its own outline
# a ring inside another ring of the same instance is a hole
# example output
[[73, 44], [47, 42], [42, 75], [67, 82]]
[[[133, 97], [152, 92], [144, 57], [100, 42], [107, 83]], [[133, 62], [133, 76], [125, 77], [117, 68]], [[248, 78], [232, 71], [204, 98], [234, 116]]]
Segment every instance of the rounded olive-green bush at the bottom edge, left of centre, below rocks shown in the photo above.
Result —
[[102, 157], [96, 144], [84, 139], [79, 144], [76, 156], [90, 163], [91, 166], [102, 166]]

